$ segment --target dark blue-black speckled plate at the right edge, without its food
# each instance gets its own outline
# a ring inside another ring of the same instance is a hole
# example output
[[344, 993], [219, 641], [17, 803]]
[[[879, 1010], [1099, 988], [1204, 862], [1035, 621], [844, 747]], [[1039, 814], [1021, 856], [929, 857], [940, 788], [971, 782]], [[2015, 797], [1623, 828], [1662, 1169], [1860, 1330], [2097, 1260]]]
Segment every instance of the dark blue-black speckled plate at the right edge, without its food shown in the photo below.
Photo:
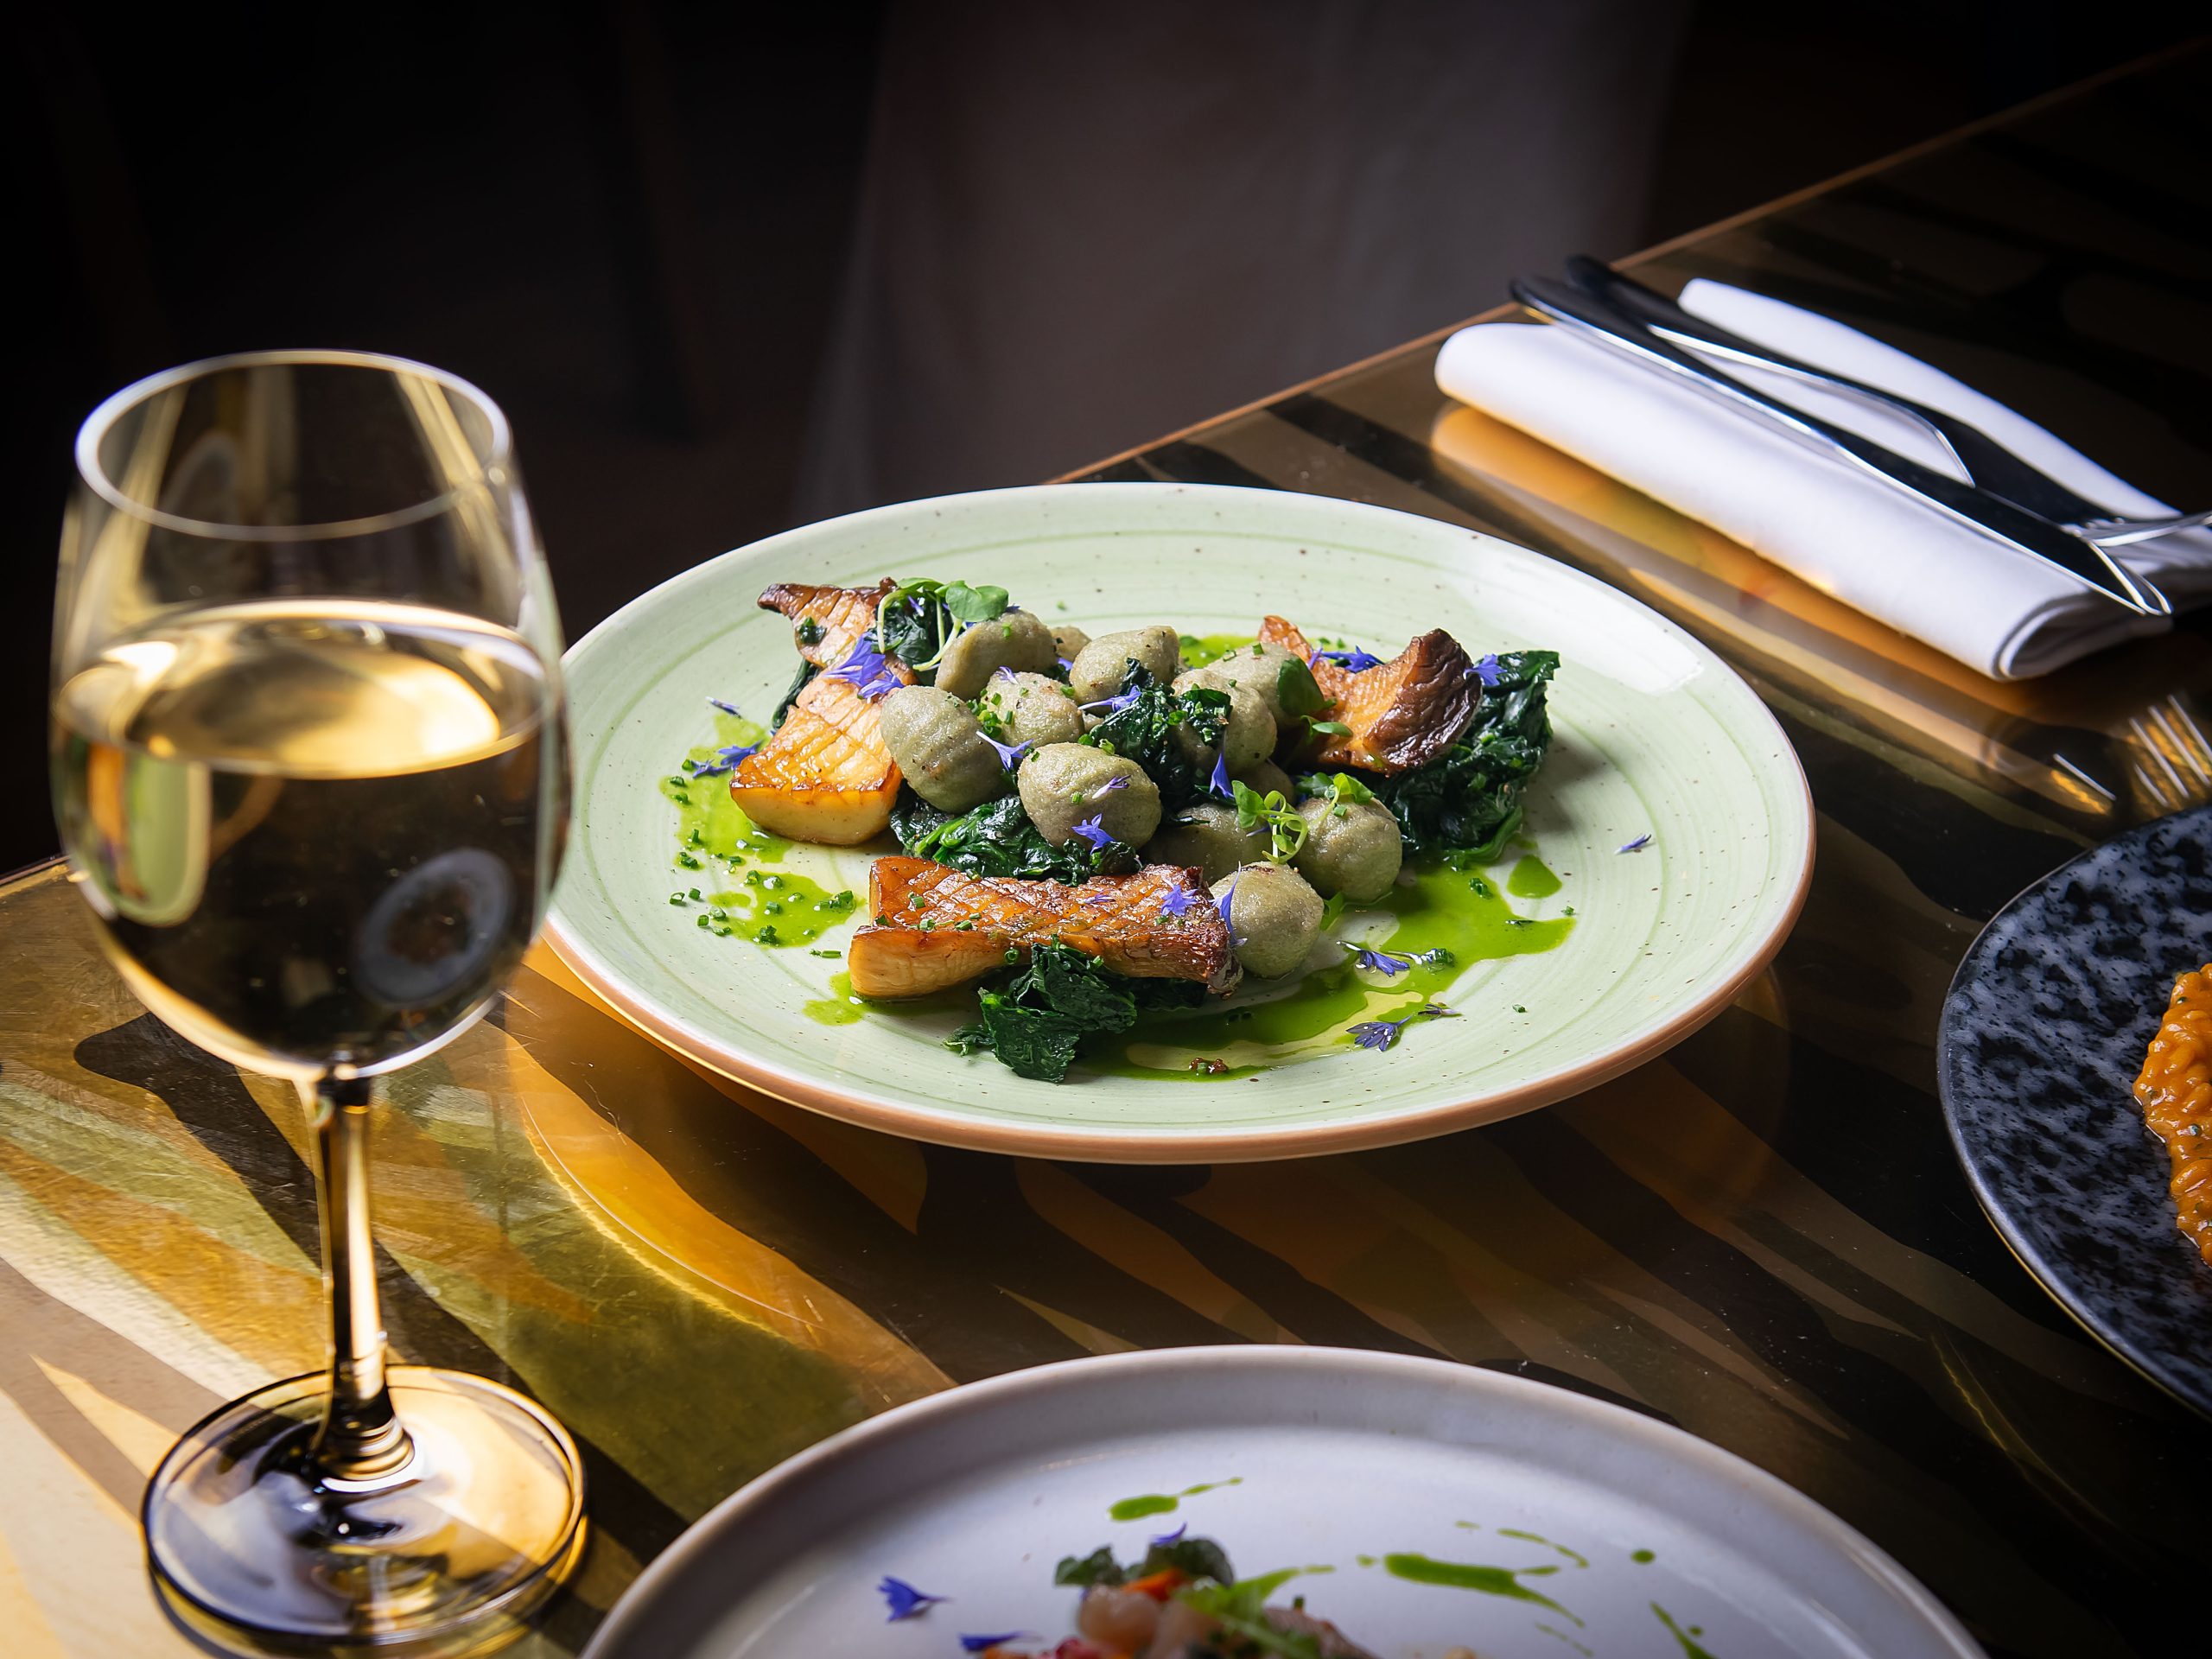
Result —
[[1938, 1071], [1966, 1179], [2044, 1290], [2212, 1416], [2212, 1267], [2174, 1228], [2130, 1086], [2174, 975], [2212, 960], [2212, 807], [2006, 905], [1951, 982]]

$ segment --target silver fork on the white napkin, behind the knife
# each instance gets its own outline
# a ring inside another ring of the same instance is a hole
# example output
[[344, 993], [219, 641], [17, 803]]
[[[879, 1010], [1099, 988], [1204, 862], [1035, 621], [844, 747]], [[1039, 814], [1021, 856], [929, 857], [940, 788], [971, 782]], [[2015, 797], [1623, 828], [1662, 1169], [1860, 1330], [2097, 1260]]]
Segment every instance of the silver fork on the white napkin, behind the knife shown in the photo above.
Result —
[[2093, 502], [2086, 495], [2077, 495], [2066, 489], [2066, 484], [2055, 480], [2042, 467], [2035, 467], [2013, 453], [1969, 420], [1947, 414], [1944, 409], [1933, 409], [1898, 392], [1854, 380], [1849, 374], [1814, 367], [1812, 363], [1794, 358], [1787, 352], [1756, 345], [1719, 323], [1708, 323], [1703, 316], [1686, 312], [1666, 294], [1646, 288], [1632, 276], [1624, 276], [1613, 270], [1613, 265], [1590, 259], [1588, 254], [1575, 254], [1566, 261], [1566, 279], [1593, 299], [1617, 305], [1639, 323], [1674, 338], [1677, 345], [1692, 345], [1699, 352], [1708, 352], [1730, 363], [1774, 369], [1776, 374], [1785, 374], [1794, 380], [1849, 392], [1896, 409], [1942, 445], [1980, 489], [1986, 489], [1991, 495], [2002, 495], [2013, 507], [2035, 513], [2057, 529], [2079, 535], [2084, 542], [2095, 542], [2097, 546], [2128, 546], [2130, 542], [2150, 542], [2159, 535], [2172, 535], [2174, 531], [2212, 524], [2212, 511], [2174, 513], [2170, 518], [2117, 515], [2101, 502]]

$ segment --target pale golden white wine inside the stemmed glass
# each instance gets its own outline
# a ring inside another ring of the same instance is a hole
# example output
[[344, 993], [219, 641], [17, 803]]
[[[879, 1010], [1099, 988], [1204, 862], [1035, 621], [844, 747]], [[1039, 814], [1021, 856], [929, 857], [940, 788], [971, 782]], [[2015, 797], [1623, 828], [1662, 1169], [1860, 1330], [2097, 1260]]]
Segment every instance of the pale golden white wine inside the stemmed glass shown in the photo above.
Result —
[[53, 703], [62, 841], [166, 1024], [257, 1071], [378, 1071], [465, 1026], [538, 929], [560, 708], [520, 635], [385, 602], [197, 611]]

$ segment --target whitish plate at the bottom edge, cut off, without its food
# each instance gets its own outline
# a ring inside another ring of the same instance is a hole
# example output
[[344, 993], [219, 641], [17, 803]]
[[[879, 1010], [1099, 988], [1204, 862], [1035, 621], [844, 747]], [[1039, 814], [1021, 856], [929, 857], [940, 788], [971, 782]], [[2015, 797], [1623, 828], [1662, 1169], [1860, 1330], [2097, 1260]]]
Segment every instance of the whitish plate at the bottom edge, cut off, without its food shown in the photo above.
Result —
[[[1110, 1517], [1139, 1495], [1177, 1504]], [[825, 1440], [677, 1540], [586, 1659], [933, 1659], [1006, 1630], [1048, 1650], [1075, 1628], [1062, 1555], [1139, 1557], [1175, 1526], [1243, 1577], [1307, 1568], [1279, 1599], [1383, 1659], [1980, 1655], [1825, 1509], [1624, 1407], [1449, 1360], [1199, 1347], [1015, 1371]], [[887, 1624], [885, 1575], [949, 1599]], [[1491, 1588], [1425, 1582], [1449, 1577]]]

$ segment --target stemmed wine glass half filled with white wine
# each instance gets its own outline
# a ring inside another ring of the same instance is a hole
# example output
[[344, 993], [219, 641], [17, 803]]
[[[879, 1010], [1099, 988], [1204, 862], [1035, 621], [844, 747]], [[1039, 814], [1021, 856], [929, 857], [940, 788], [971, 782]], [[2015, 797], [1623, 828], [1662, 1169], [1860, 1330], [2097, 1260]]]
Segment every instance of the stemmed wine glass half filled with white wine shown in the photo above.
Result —
[[560, 619], [507, 420], [400, 358], [257, 352], [77, 436], [53, 799], [131, 989], [290, 1077], [330, 1367], [226, 1405], [146, 1489], [164, 1604], [234, 1652], [480, 1652], [575, 1566], [575, 1442], [513, 1389], [387, 1367], [369, 1079], [465, 1031], [546, 909]]

